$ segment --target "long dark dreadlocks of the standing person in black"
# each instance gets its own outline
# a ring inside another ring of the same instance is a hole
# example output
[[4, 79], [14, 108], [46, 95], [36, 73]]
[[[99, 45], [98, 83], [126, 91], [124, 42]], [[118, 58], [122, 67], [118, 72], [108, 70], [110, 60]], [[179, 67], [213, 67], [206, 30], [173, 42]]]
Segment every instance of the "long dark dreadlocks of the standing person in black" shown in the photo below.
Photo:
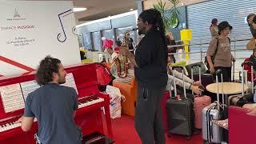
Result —
[[155, 9], [149, 9], [142, 11], [141, 14], [139, 14], [139, 18], [142, 18], [143, 22], [148, 22], [152, 25], [152, 28], [154, 30], [158, 30], [160, 32], [162, 42], [164, 43], [164, 46], [166, 48], [166, 60], [167, 60], [167, 46], [166, 46], [166, 34], [165, 34], [165, 28], [163, 24], [163, 20], [161, 17], [161, 14], [158, 10]]

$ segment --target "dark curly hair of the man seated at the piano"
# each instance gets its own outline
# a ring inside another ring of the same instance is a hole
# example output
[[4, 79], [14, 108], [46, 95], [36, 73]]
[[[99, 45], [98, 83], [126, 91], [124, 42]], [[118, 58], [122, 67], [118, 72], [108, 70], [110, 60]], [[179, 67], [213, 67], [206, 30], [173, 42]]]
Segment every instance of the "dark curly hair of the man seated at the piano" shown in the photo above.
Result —
[[53, 80], [53, 73], [58, 73], [58, 64], [60, 63], [61, 61], [59, 59], [51, 58], [49, 55], [40, 62], [36, 73], [36, 81], [39, 86], [45, 85]]

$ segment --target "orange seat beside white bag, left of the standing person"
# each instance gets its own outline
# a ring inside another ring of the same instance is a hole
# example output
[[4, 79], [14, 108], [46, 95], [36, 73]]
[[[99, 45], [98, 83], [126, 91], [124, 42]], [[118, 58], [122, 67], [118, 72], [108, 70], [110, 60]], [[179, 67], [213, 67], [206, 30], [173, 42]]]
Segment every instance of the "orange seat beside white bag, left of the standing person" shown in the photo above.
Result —
[[113, 86], [118, 87], [121, 91], [121, 94], [126, 97], [126, 101], [122, 102], [122, 114], [133, 116], [135, 115], [135, 106], [134, 103], [136, 102], [137, 98], [137, 90], [138, 84], [135, 81], [135, 78], [131, 78], [131, 82], [113, 82]]

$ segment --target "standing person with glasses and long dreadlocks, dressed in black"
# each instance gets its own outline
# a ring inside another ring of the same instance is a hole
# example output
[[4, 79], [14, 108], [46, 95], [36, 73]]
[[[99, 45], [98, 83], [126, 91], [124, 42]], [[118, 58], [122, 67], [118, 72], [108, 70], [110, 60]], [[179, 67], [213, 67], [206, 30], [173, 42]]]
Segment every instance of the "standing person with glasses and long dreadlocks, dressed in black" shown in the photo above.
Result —
[[145, 34], [134, 54], [120, 47], [135, 66], [138, 97], [135, 110], [135, 129], [143, 144], [164, 144], [161, 98], [167, 83], [167, 46], [161, 14], [144, 10], [138, 17], [138, 30]]

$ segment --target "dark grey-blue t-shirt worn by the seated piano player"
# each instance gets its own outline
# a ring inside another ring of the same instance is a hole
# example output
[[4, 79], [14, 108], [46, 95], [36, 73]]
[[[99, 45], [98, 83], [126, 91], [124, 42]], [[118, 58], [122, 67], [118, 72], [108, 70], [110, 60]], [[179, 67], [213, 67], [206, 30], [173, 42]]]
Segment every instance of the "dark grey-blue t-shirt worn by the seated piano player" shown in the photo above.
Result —
[[38, 120], [38, 138], [43, 144], [78, 144], [79, 132], [74, 123], [78, 97], [74, 88], [49, 83], [28, 95], [25, 117]]

